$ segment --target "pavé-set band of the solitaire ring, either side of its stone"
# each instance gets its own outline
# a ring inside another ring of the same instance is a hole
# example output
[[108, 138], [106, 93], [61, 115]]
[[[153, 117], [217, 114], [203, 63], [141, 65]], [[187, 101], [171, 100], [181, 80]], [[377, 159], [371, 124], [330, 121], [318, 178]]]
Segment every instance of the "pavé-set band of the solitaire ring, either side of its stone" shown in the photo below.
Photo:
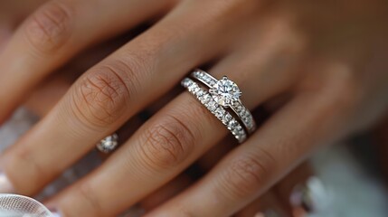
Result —
[[[214, 85], [217, 84], [219, 80], [216, 80], [212, 75], [202, 70], [195, 70], [192, 72], [191, 76], [201, 81], [204, 85], [213, 89]], [[241, 118], [242, 124], [247, 128], [249, 134], [253, 133], [256, 130], [256, 122], [254, 121], [253, 116], [249, 109], [247, 109], [241, 102], [240, 99], [233, 100], [229, 107], [236, 113], [236, 115]]]

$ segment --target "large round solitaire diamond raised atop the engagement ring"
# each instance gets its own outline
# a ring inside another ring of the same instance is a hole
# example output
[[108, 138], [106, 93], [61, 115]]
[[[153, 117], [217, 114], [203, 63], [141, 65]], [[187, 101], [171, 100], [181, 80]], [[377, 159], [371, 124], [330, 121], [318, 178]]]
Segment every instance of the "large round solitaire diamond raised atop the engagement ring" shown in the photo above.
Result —
[[230, 107], [234, 101], [239, 100], [241, 97], [241, 90], [237, 84], [226, 76], [213, 85], [210, 93], [213, 99], [223, 107]]

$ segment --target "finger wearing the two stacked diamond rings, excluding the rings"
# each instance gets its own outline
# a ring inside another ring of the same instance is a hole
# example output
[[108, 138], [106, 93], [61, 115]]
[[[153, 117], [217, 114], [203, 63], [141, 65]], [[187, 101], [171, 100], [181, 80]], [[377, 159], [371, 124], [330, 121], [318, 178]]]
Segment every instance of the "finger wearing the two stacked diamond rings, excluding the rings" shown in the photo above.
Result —
[[[284, 36], [284, 34], [281, 35]], [[270, 36], [274, 39], [273, 35]], [[289, 36], [282, 39], [289, 40]], [[283, 40], [279, 41], [284, 42]], [[288, 44], [288, 42], [283, 43], [283, 45]], [[292, 45], [295, 44], [292, 43]], [[274, 56], [271, 58], [276, 59], [279, 54], [283, 54], [282, 49], [285, 47], [280, 45], [279, 47], [281, 47], [279, 53], [274, 52]], [[286, 47], [295, 49], [293, 46]], [[263, 50], [254, 51], [267, 52], [264, 47]], [[258, 53], [245, 54], [246, 56], [241, 56], [242, 60], [244, 57]], [[294, 56], [291, 55], [290, 58], [294, 58]], [[255, 91], [259, 91], [260, 95], [247, 94], [244, 98], [251, 108], [269, 99], [274, 92], [281, 92], [289, 87], [289, 83], [283, 80], [284, 76], [295, 72], [297, 65], [289, 65], [284, 69], [277, 68], [279, 71], [261, 71], [263, 67], [267, 66], [265, 61], [258, 63], [257, 60], [251, 59], [251, 61], [242, 63], [241, 60], [234, 57], [225, 61], [230, 63], [225, 63], [225, 65], [229, 65], [229, 67], [224, 68], [227, 70], [221, 71], [217, 65], [213, 70], [214, 75], [220, 77], [226, 74], [235, 78], [237, 83], [245, 84], [241, 87], [243, 90], [252, 90], [253, 87], [256, 87]], [[225, 66], [221, 64], [223, 63], [220, 63], [220, 67]], [[218, 71], [218, 74], [215, 71]], [[246, 73], [245, 80], [241, 80], [243, 77], [239, 76], [240, 74], [234, 74], [235, 71], [244, 71]], [[265, 86], [260, 83], [266, 82], [261, 77], [265, 73], [278, 74], [278, 78], [281, 78], [283, 82], [273, 82], [276, 87], [272, 87], [271, 90], [257, 89], [257, 87]], [[291, 79], [289, 79], [290, 81]], [[184, 93], [141, 127], [137, 134], [131, 137], [128, 143], [122, 146], [122, 149], [118, 150], [106, 164], [85, 177], [80, 183], [58, 195], [51, 204], [58, 206], [68, 216], [117, 214], [124, 207], [136, 203], [148, 193], [173, 179], [187, 165], [191, 165], [198, 156], [221, 141], [225, 135], [227, 135], [227, 130], [220, 121], [214, 118], [190, 94]], [[113, 171], [114, 176], [111, 175]], [[105, 188], [99, 188], [101, 185]], [[118, 186], [119, 191], [106, 190], [115, 189]], [[89, 192], [92, 192], [92, 195]], [[89, 194], [90, 197], [85, 196]], [[107, 198], [117, 198], [117, 201], [113, 204]]]

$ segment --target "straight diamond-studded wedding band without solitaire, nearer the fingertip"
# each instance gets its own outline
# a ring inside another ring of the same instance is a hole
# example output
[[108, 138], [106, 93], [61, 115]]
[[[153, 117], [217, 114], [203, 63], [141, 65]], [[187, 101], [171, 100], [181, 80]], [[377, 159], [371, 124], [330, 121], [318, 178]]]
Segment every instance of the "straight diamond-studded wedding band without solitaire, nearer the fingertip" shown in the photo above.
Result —
[[239, 121], [237, 121], [236, 118], [233, 118], [229, 111], [218, 105], [207, 90], [204, 90], [198, 85], [198, 83], [189, 78], [182, 80], [182, 86], [193, 94], [194, 97], [198, 99], [204, 107], [206, 107], [206, 109], [212, 112], [213, 115], [232, 132], [232, 135], [236, 137], [239, 143], [243, 143], [246, 140], [247, 133]]

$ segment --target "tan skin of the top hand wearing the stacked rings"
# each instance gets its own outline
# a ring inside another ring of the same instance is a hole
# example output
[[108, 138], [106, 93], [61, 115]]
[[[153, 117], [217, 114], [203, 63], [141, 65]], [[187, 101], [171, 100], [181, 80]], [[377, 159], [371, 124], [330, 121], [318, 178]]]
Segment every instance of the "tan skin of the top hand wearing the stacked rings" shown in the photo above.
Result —
[[[387, 109], [387, 8], [379, 0], [50, 1], [0, 53], [2, 121], [76, 53], [161, 18], [84, 72], [1, 156], [2, 169], [15, 192], [39, 192], [191, 69], [215, 62], [208, 71], [239, 84], [249, 109], [289, 97], [246, 143], [147, 216], [239, 212], [318, 146], [371, 126]], [[64, 216], [113, 216], [174, 180], [227, 135], [183, 92], [48, 204]]]

